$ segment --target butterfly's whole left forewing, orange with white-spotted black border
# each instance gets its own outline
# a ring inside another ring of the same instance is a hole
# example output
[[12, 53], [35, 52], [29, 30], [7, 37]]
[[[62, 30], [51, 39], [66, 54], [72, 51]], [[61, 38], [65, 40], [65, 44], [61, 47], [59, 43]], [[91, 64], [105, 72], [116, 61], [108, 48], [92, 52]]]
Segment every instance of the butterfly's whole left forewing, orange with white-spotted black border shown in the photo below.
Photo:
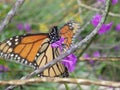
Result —
[[[15, 36], [0, 44], [0, 56], [5, 59], [15, 59], [24, 64], [32, 64], [39, 49], [44, 44], [44, 40], [47, 38], [47, 34]], [[46, 43], [49, 43], [49, 40]]]

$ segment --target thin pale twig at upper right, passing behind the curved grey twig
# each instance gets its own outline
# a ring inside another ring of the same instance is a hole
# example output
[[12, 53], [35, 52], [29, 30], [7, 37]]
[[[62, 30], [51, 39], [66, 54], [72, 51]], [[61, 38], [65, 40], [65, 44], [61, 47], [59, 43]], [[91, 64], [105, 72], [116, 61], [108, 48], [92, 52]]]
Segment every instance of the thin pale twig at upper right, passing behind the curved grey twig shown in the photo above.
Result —
[[[85, 4], [83, 4], [83, 3], [78, 3], [78, 4], [79, 4], [79, 6], [84, 7], [84, 8], [86, 8], [86, 9], [89, 9], [89, 10], [92, 10], [92, 11], [104, 12], [103, 10], [100, 10], [100, 9], [97, 9], [97, 8], [94, 8], [94, 7], [85, 5]], [[113, 17], [120, 17], [120, 14], [112, 13], [112, 12], [109, 12], [108, 15], [113, 16]]]

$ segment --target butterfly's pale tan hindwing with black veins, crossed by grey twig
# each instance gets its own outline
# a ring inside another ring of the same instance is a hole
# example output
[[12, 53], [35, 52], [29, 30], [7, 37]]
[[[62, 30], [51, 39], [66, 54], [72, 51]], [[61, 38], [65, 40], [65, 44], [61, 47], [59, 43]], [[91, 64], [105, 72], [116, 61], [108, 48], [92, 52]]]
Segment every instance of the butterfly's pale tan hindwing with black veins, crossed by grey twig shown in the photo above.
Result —
[[[53, 47], [51, 47], [51, 45], [49, 45], [47, 47], [47, 50], [45, 52], [43, 52], [36, 60], [37, 65], [39, 66], [38, 68], [49, 63], [50, 61], [52, 61], [53, 59], [55, 59], [59, 55], [60, 55], [59, 48], [53, 48]], [[45, 69], [42, 73], [40, 73], [40, 76], [45, 76], [45, 77], [64, 76], [64, 77], [67, 77], [68, 74], [64, 74], [64, 73], [68, 73], [66, 71], [65, 66], [63, 64], [61, 64], [60, 62], [57, 62], [55, 65], [51, 66], [48, 69]]]

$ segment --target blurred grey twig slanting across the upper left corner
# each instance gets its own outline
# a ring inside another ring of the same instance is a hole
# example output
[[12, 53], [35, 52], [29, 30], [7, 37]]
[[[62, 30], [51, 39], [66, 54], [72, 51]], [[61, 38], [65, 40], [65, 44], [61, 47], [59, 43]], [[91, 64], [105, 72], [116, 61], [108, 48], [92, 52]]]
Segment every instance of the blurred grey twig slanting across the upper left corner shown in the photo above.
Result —
[[6, 25], [8, 25], [10, 23], [12, 18], [15, 16], [18, 8], [23, 4], [24, 1], [25, 0], [17, 0], [16, 1], [13, 8], [8, 12], [5, 19], [1, 22], [1, 24], [0, 24], [0, 32], [5, 28]]

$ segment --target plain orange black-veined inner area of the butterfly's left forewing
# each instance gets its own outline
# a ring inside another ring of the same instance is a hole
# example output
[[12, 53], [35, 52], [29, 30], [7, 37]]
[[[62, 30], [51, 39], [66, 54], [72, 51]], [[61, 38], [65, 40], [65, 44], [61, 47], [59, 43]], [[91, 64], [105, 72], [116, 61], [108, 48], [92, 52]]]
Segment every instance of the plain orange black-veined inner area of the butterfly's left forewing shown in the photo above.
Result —
[[33, 62], [39, 48], [46, 38], [48, 38], [46, 35], [24, 37], [21, 43], [14, 48], [13, 52], [27, 59], [28, 62]]

